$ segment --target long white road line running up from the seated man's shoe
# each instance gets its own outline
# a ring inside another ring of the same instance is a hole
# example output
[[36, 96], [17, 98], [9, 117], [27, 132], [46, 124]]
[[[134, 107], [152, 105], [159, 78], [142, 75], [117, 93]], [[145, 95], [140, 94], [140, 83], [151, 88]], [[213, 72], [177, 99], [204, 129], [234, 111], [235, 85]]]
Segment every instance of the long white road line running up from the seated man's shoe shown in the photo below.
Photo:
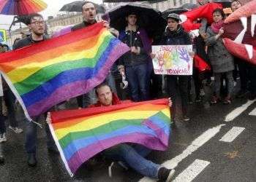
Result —
[[[207, 141], [209, 141], [211, 138], [213, 138], [221, 129], [222, 126], [225, 126], [225, 124], [219, 124], [217, 127], [212, 127], [206, 132], [203, 132], [202, 135], [197, 137], [192, 143], [185, 149], [181, 154], [174, 157], [173, 159], [167, 160], [164, 163], [162, 163], [163, 166], [165, 166], [168, 169], [175, 168], [179, 162], [181, 162], [183, 159], [188, 157], [190, 154], [192, 154], [194, 151], [200, 148], [200, 146], [203, 146]], [[154, 179], [144, 177], [140, 179], [140, 182], [153, 182]]]

